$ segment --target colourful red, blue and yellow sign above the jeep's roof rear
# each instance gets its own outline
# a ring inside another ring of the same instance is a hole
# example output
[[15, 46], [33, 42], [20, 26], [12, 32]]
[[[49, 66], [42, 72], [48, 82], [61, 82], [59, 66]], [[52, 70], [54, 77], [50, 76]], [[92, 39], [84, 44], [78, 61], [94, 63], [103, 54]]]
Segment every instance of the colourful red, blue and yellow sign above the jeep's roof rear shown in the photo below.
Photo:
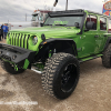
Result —
[[105, 16], [111, 16], [111, 0], [103, 4], [102, 13]]

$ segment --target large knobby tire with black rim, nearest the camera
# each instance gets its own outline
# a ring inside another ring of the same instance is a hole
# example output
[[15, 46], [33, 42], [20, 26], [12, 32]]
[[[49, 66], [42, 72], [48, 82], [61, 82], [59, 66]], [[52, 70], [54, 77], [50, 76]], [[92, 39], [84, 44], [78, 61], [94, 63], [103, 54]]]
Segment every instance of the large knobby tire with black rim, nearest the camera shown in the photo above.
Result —
[[56, 53], [46, 63], [42, 87], [48, 94], [65, 99], [75, 89], [79, 75], [80, 64], [74, 56]]

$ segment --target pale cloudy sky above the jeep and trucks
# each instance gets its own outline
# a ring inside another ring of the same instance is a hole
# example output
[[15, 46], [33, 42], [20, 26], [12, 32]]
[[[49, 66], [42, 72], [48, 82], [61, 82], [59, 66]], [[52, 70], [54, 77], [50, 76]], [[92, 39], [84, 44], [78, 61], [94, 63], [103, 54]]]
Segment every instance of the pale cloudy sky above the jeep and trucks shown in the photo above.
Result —
[[[65, 10], [67, 0], [58, 0], [54, 8]], [[85, 9], [102, 13], [104, 0], [68, 0], [68, 9]], [[54, 0], [0, 0], [0, 22], [31, 21], [31, 14], [37, 9], [51, 9]]]

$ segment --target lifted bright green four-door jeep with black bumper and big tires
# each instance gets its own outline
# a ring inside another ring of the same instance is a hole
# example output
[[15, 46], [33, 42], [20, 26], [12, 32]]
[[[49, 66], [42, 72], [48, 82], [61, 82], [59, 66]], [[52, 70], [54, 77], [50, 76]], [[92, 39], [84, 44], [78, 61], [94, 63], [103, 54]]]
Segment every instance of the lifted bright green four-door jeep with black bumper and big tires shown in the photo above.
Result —
[[1, 67], [11, 74], [41, 73], [42, 87], [58, 99], [77, 87], [80, 63], [101, 57], [111, 68], [110, 17], [87, 10], [49, 12], [43, 27], [11, 30], [0, 43]]

